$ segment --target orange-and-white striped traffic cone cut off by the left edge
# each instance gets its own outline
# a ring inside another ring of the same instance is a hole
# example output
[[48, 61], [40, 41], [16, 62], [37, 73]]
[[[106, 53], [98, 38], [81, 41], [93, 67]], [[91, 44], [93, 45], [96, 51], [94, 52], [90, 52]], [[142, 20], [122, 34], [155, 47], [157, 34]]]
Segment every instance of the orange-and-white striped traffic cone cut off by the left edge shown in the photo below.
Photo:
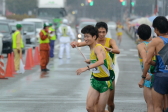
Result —
[[4, 59], [4, 57], [2, 55], [0, 55], [0, 79], [8, 79], [8, 78], [5, 78], [5, 76], [4, 76], [5, 70], [4, 70], [3, 59]]

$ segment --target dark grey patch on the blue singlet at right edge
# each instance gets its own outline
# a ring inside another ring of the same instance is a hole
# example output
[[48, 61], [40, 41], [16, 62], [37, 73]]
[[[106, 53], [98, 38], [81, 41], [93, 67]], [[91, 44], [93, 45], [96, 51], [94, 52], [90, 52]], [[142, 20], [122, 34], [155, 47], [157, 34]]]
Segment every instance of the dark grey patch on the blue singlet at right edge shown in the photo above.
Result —
[[168, 44], [166, 44], [160, 51], [159, 55], [165, 65], [168, 65]]

